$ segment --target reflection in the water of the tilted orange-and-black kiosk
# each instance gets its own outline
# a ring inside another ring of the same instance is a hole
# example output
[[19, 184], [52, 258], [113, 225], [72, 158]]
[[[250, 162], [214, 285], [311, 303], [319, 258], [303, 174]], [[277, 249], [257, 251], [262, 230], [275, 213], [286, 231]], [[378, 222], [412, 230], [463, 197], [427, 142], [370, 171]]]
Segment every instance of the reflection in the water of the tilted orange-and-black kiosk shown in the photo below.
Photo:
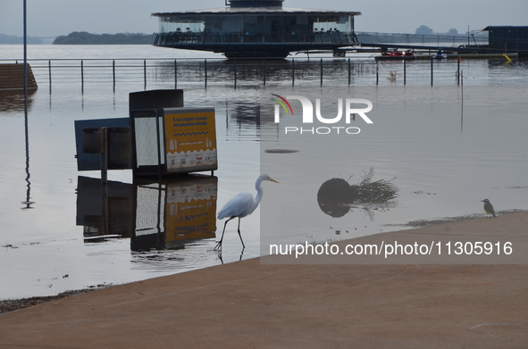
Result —
[[180, 248], [215, 237], [214, 176], [189, 175], [134, 184], [79, 177], [77, 225], [85, 241], [130, 237], [130, 249]]

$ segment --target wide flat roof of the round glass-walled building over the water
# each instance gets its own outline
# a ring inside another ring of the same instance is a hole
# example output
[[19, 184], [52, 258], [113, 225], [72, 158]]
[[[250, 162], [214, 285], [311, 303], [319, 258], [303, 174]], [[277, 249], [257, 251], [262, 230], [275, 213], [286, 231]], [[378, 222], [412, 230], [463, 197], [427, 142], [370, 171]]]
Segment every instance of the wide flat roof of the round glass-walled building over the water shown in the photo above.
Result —
[[304, 13], [313, 15], [352, 15], [359, 16], [361, 12], [354, 11], [333, 11], [333, 10], [314, 10], [314, 9], [303, 9], [295, 7], [220, 7], [207, 10], [189, 10], [182, 12], [156, 12], [152, 13], [155, 17], [166, 17], [181, 14], [222, 14], [222, 13], [239, 13], [239, 14], [251, 14], [251, 13], [274, 13], [274, 14], [293, 14], [293, 13]]

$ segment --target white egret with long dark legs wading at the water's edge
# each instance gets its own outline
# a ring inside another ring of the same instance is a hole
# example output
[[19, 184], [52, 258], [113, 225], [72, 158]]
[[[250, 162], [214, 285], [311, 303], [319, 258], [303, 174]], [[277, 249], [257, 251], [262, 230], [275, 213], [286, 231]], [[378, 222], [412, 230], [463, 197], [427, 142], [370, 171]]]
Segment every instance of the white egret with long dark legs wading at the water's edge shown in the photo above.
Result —
[[222, 207], [222, 210], [218, 212], [219, 220], [222, 220], [226, 217], [229, 217], [229, 220], [226, 220], [223, 224], [222, 237], [220, 238], [218, 244], [214, 247], [215, 250], [218, 249], [218, 247], [222, 246], [223, 234], [225, 233], [225, 227], [227, 226], [227, 222], [235, 217], [239, 217], [239, 237], [240, 241], [242, 242], [242, 247], [246, 248], [246, 245], [244, 245], [244, 241], [242, 240], [242, 236], [240, 235], [240, 219], [253, 213], [256, 210], [258, 204], [260, 204], [260, 201], [262, 200], [262, 195], [264, 194], [264, 190], [260, 186], [263, 180], [271, 180], [272, 182], [279, 183], [275, 179], [271, 179], [270, 176], [262, 174], [258, 177], [258, 179], [256, 179], [255, 182], [255, 198], [253, 198], [253, 195], [251, 195], [251, 193], [242, 192], [230, 199], [230, 201], [228, 201], [227, 204]]

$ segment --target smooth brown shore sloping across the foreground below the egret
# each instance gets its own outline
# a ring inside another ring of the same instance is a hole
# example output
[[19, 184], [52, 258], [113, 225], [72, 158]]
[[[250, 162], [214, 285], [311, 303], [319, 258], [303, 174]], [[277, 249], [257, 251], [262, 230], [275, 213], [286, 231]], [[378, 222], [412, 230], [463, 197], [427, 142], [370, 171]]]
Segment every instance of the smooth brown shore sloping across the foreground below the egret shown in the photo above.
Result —
[[524, 348], [527, 223], [519, 212], [352, 240], [510, 241], [501, 262], [515, 264], [257, 258], [5, 313], [0, 347]]

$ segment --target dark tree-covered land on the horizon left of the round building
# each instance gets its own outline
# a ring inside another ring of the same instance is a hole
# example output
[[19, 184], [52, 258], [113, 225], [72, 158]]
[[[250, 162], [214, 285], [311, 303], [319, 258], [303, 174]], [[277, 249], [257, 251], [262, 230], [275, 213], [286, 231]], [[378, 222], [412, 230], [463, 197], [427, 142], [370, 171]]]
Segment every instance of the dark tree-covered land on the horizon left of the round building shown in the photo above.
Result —
[[90, 34], [74, 31], [67, 36], [56, 37], [54, 45], [143, 45], [154, 43], [154, 39], [155, 33]]

